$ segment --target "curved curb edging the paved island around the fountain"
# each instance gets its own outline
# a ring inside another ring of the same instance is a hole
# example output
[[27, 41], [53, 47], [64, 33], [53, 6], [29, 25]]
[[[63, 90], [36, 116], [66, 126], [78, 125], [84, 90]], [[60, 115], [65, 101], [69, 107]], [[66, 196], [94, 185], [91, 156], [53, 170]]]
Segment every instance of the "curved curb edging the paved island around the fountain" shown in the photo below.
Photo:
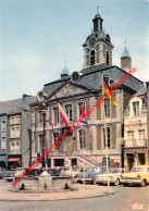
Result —
[[73, 197], [73, 198], [62, 198], [62, 199], [0, 199], [0, 201], [9, 201], [9, 202], [22, 202], [22, 201], [63, 201], [63, 200], [76, 200], [76, 199], [89, 199], [89, 198], [98, 198], [98, 197], [104, 197], [104, 196], [111, 196], [114, 195], [117, 190], [111, 191], [110, 195], [108, 193], [102, 193], [99, 195], [92, 195], [88, 197]]

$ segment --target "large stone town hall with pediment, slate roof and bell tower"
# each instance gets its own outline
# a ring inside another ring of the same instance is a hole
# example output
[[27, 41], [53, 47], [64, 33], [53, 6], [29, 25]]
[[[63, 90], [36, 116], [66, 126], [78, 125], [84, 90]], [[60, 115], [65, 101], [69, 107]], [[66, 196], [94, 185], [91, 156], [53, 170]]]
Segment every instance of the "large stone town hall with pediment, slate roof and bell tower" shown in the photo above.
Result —
[[[82, 104], [85, 111], [102, 97], [102, 78], [108, 79], [110, 87], [132, 69], [132, 59], [125, 49], [121, 58], [121, 67], [112, 63], [112, 40], [102, 28], [103, 18], [97, 14], [94, 32], [86, 38], [84, 47], [83, 70], [69, 75], [63, 70], [61, 78], [45, 84], [37, 95], [37, 101], [30, 104], [32, 110], [32, 161], [35, 161], [44, 149], [51, 148], [58, 137], [67, 128], [60, 116], [58, 100], [64, 108], [70, 127], [80, 117]], [[47, 159], [47, 166], [105, 165], [104, 119], [105, 111], [108, 157], [110, 167], [124, 165], [124, 115], [132, 96], [144, 88], [144, 83], [132, 75], [114, 92], [116, 107], [110, 98], [101, 108], [97, 108], [58, 146]]]

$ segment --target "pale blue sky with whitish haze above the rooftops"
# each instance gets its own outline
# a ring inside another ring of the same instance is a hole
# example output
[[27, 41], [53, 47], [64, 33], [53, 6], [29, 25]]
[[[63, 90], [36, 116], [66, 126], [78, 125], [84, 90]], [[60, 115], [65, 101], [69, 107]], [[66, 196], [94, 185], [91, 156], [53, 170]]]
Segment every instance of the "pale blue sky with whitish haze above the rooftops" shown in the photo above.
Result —
[[36, 96], [65, 61], [70, 74], [80, 71], [97, 5], [113, 64], [121, 65], [126, 40], [135, 76], [149, 80], [149, 0], [0, 0], [0, 101]]

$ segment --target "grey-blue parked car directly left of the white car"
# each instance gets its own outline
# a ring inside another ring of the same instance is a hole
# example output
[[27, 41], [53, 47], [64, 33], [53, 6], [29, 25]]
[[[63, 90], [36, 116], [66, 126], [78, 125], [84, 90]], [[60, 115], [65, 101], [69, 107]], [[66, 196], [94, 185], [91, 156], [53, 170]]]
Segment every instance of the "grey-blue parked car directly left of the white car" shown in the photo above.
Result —
[[89, 167], [87, 172], [82, 172], [76, 174], [74, 177], [75, 183], [83, 183], [85, 182], [90, 182], [94, 183], [95, 176], [97, 174], [102, 174], [105, 171], [105, 167]]

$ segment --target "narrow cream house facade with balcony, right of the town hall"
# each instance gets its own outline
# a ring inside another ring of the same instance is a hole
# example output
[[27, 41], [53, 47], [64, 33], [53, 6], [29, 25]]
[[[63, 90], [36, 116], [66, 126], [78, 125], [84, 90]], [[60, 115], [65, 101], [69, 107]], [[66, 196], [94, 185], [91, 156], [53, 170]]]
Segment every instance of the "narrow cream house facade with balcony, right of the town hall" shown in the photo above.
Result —
[[147, 95], [138, 91], [124, 113], [124, 165], [148, 164]]

